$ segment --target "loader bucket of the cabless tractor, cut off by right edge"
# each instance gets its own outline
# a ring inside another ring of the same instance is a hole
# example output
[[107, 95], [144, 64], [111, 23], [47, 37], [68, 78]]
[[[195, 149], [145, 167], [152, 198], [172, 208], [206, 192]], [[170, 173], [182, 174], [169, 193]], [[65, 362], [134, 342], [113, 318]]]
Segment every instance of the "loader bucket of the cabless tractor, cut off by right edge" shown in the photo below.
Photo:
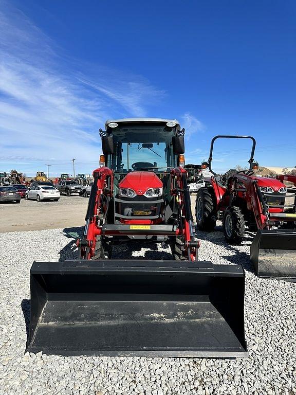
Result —
[[296, 281], [296, 231], [258, 230], [250, 257], [258, 277]]

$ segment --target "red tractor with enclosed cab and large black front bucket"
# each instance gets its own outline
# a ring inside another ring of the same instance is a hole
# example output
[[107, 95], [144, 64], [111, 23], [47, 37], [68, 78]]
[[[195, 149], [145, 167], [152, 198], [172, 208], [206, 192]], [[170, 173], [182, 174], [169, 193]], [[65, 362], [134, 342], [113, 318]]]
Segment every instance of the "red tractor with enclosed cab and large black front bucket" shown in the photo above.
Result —
[[[197, 261], [184, 129], [107, 121], [79, 257], [34, 262], [28, 350], [62, 355], [247, 356], [241, 265]], [[175, 260], [112, 259], [116, 243], [171, 245]]]

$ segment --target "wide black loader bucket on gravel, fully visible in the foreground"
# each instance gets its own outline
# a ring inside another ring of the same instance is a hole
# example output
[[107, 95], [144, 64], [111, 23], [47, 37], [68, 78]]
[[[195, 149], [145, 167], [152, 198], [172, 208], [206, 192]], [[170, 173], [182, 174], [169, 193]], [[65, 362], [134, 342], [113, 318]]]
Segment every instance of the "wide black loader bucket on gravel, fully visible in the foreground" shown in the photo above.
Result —
[[59, 355], [248, 356], [240, 265], [34, 262], [27, 350]]

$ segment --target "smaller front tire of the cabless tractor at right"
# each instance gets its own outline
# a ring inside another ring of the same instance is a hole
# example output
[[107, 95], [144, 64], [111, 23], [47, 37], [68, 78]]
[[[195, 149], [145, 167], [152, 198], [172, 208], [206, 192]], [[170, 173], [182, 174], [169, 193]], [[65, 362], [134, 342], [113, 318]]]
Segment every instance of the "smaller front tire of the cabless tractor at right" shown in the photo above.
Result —
[[231, 244], [241, 244], [245, 236], [245, 219], [239, 207], [231, 206], [224, 212], [223, 232]]

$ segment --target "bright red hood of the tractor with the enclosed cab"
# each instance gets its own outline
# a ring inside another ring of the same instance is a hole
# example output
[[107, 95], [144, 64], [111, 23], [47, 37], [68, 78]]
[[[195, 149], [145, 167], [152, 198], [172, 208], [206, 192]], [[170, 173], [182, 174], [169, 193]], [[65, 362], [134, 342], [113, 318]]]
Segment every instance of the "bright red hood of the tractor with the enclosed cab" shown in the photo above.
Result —
[[149, 188], [162, 188], [162, 182], [152, 171], [132, 171], [119, 183], [120, 188], [131, 188], [143, 195]]

